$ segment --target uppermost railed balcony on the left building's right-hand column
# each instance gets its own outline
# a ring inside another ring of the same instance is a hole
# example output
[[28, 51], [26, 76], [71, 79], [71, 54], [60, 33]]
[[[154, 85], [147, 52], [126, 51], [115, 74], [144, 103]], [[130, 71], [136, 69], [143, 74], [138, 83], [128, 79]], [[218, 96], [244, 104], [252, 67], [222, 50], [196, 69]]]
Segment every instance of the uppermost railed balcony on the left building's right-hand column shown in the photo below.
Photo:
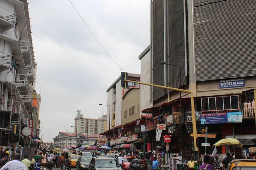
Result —
[[21, 49], [25, 64], [32, 64], [33, 51], [32, 51], [30, 41], [20, 40], [20, 49]]

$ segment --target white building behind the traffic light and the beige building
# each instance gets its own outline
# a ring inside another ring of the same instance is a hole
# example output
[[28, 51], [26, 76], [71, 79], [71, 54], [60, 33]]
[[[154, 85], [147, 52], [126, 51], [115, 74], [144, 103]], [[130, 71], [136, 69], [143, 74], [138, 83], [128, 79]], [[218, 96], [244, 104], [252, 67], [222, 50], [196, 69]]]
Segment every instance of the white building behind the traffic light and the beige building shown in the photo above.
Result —
[[[140, 82], [140, 74], [130, 74], [128, 73], [128, 79]], [[128, 82], [129, 87], [140, 87], [139, 84], [134, 84], [132, 82]], [[128, 89], [123, 89], [121, 87], [121, 76], [116, 79], [115, 82], [107, 89], [108, 93], [108, 104], [110, 105], [110, 112], [109, 108], [107, 109], [107, 129], [109, 130], [113, 127], [121, 125], [121, 118], [122, 118], [122, 96]], [[109, 106], [107, 106], [109, 107]], [[110, 117], [109, 117], [110, 116]], [[110, 118], [110, 119], [109, 119]], [[110, 120], [110, 122], [109, 122]]]

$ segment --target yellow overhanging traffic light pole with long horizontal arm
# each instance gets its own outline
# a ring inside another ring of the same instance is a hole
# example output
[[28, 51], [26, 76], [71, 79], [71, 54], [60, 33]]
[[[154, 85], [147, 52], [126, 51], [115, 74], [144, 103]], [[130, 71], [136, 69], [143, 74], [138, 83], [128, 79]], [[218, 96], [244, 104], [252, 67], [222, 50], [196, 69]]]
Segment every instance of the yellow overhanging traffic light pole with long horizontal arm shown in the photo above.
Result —
[[190, 100], [191, 100], [192, 125], [193, 125], [193, 134], [194, 134], [194, 148], [195, 148], [195, 151], [198, 151], [198, 148], [196, 146], [197, 130], [196, 130], [196, 121], [195, 121], [195, 105], [194, 105], [194, 96], [193, 96], [192, 91], [183, 90], [183, 89], [179, 89], [179, 88], [166, 87], [166, 86], [163, 86], [163, 85], [154, 85], [154, 84], [145, 83], [145, 82], [136, 82], [136, 81], [132, 81], [132, 80], [128, 80], [128, 79], [124, 79], [124, 82], [134, 82], [134, 83], [137, 83], [137, 84], [140, 84], [140, 85], [149, 85], [149, 86], [153, 86], [153, 87], [157, 87], [157, 88], [164, 88], [164, 89], [169, 89], [169, 90], [173, 90], [173, 91], [181, 91], [181, 92], [184, 92], [184, 93], [189, 93], [190, 94]]

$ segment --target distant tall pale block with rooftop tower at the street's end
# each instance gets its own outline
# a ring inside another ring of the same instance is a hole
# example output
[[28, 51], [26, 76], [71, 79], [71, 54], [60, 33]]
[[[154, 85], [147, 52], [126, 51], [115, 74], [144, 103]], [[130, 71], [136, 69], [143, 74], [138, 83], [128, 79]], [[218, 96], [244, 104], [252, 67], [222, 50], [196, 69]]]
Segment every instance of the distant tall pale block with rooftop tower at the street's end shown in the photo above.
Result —
[[75, 133], [88, 133], [90, 134], [100, 134], [104, 132], [106, 122], [106, 115], [102, 115], [101, 119], [90, 119], [84, 118], [84, 115], [81, 114], [81, 111], [77, 111], [75, 117]]

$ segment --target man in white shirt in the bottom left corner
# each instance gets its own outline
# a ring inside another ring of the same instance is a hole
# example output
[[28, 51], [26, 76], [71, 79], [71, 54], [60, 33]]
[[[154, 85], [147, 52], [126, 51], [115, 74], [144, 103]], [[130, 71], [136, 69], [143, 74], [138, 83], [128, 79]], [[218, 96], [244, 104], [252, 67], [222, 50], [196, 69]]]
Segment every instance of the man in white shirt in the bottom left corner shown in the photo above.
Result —
[[7, 162], [1, 170], [26, 170], [25, 165], [20, 162], [20, 153], [15, 153], [14, 160]]

